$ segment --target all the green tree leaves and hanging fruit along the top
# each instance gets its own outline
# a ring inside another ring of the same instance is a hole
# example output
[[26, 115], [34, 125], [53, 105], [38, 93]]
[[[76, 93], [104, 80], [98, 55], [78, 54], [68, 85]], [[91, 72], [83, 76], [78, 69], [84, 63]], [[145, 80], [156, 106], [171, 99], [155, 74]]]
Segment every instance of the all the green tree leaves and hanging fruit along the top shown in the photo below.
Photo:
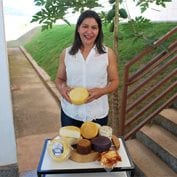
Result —
[[[144, 12], [149, 8], [149, 4], [155, 2], [157, 5], [165, 7], [165, 3], [171, 2], [172, 0], [134, 0], [137, 6], [140, 7], [141, 12]], [[123, 1], [120, 0], [121, 4]], [[36, 6], [41, 6], [41, 10], [33, 15], [31, 22], [38, 22], [42, 24], [42, 31], [45, 29], [52, 28], [58, 19], [63, 20], [65, 23], [70, 25], [70, 22], [65, 18], [65, 15], [72, 10], [75, 12], [82, 12], [85, 9], [91, 9], [94, 7], [101, 7], [98, 0], [34, 0]], [[113, 21], [115, 16], [115, 0], [109, 0], [112, 5], [112, 9], [106, 13], [101, 12], [100, 16], [103, 23], [109, 23], [110, 31], [113, 32]], [[119, 9], [120, 18], [128, 18], [127, 12], [124, 8]], [[140, 16], [141, 18], [141, 16]], [[136, 19], [138, 22], [138, 19]]]

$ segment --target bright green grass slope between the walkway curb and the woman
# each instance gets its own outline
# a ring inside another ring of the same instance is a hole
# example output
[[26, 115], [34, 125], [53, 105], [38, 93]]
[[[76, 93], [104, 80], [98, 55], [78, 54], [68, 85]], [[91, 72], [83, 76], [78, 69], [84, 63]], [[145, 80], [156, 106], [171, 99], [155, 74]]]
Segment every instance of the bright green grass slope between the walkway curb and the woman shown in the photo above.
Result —
[[74, 26], [54, 26], [51, 30], [37, 34], [24, 46], [52, 80], [55, 79], [60, 53], [72, 43], [73, 33]]

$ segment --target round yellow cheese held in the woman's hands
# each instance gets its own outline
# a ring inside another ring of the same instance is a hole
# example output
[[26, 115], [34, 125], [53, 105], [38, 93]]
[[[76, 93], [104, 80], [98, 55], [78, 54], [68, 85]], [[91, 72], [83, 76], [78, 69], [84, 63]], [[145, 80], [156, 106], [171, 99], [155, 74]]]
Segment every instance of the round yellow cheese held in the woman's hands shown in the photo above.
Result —
[[84, 104], [89, 96], [88, 90], [83, 87], [77, 87], [69, 93], [71, 102], [76, 105]]

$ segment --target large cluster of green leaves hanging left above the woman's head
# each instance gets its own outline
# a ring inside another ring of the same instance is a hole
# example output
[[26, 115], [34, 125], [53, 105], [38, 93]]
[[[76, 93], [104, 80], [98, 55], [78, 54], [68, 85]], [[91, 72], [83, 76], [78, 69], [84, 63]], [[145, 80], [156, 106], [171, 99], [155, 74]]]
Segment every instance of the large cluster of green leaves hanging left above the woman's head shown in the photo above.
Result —
[[42, 24], [42, 30], [52, 28], [58, 19], [70, 25], [65, 18], [69, 10], [75, 13], [82, 12], [86, 8], [101, 7], [98, 0], [34, 0], [34, 3], [36, 6], [41, 6], [41, 10], [33, 15], [31, 23]]

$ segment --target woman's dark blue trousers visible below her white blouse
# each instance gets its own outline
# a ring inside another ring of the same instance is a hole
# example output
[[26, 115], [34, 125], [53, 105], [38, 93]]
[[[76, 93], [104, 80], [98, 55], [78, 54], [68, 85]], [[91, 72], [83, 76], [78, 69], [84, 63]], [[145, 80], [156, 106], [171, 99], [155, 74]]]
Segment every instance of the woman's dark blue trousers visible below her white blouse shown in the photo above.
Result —
[[[107, 125], [108, 123], [108, 116], [103, 117], [102, 119], [96, 119], [96, 120], [92, 120], [92, 122], [96, 122], [100, 125]], [[61, 109], [61, 126], [68, 126], [68, 125], [73, 125], [76, 127], [81, 127], [81, 125], [83, 124], [83, 121], [79, 121], [79, 120], [75, 120], [69, 116], [67, 116], [63, 110]]]

